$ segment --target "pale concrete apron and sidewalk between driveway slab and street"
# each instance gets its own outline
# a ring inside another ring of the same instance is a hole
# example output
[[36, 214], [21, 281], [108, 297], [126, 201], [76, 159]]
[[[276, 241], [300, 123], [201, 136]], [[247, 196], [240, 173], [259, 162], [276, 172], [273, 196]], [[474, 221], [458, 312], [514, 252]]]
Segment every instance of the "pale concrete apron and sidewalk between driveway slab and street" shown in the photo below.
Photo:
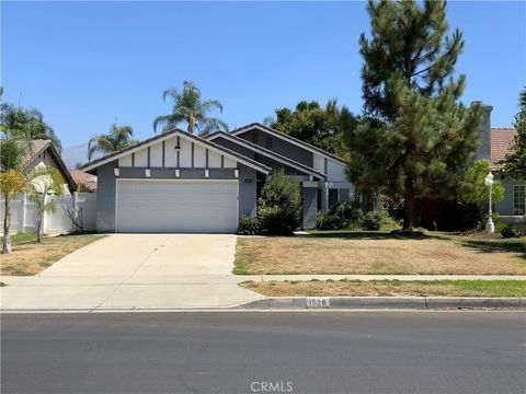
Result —
[[2, 278], [1, 310], [230, 308], [263, 299], [233, 276]]

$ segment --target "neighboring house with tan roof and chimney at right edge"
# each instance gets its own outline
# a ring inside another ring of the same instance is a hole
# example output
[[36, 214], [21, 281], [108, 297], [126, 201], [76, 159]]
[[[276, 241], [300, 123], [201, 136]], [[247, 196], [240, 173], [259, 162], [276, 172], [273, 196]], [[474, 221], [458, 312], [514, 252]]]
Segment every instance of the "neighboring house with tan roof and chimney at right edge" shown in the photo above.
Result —
[[484, 120], [481, 128], [481, 144], [476, 159], [485, 159], [491, 162], [491, 171], [504, 186], [504, 200], [496, 202], [493, 210], [504, 221], [512, 223], [525, 222], [526, 212], [526, 183], [505, 176], [501, 172], [506, 153], [513, 146], [517, 131], [514, 128], [491, 127], [491, 105], [482, 105]]

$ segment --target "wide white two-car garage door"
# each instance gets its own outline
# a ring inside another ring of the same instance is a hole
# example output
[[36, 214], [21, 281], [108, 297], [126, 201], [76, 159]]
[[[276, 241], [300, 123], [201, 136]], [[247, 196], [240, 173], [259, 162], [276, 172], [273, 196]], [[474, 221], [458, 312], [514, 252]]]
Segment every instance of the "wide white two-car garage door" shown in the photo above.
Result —
[[117, 232], [235, 232], [238, 181], [117, 181]]

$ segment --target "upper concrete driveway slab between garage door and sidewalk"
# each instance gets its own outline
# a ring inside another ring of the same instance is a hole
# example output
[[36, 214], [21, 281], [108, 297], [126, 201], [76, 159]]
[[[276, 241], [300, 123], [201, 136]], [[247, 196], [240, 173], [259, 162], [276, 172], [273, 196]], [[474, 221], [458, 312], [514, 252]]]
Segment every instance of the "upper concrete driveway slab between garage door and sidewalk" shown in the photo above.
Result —
[[230, 275], [236, 253], [231, 234], [114, 234], [84, 246], [41, 275], [144, 276]]

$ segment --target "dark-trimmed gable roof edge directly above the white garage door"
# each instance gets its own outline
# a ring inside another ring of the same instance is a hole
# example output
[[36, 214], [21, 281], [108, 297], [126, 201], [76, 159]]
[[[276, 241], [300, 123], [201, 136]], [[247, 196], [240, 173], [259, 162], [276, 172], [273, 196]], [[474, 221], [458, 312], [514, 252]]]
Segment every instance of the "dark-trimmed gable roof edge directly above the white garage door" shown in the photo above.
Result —
[[244, 155], [242, 155], [238, 152], [231, 151], [230, 149], [221, 147], [220, 144], [208, 141], [208, 140], [202, 138], [202, 137], [197, 137], [197, 136], [194, 136], [194, 135], [192, 135], [187, 131], [183, 131], [179, 128], [169, 129], [168, 131], [164, 131], [164, 132], [160, 134], [159, 136], [153, 136], [151, 138], [148, 138], [144, 141], [140, 141], [140, 142], [135, 143], [133, 146], [123, 148], [123, 149], [121, 149], [116, 152], [112, 152], [112, 153], [106, 154], [102, 158], [95, 159], [95, 160], [93, 160], [89, 163], [85, 163], [84, 165], [79, 167], [79, 170], [82, 170], [82, 171], [85, 171], [85, 172], [91, 172], [91, 171], [100, 167], [101, 165], [104, 165], [104, 164], [106, 164], [108, 162], [112, 162], [114, 160], [118, 160], [119, 158], [122, 158], [126, 154], [136, 152], [136, 151], [141, 150], [146, 147], [150, 147], [152, 144], [159, 143], [161, 141], [168, 140], [168, 139], [170, 139], [172, 137], [176, 137], [176, 136], [191, 139], [194, 142], [196, 142], [201, 146], [204, 146], [205, 148], [211, 148], [211, 150], [215, 150], [215, 151], [219, 152], [220, 154], [224, 154], [225, 157], [228, 157], [229, 159], [232, 159], [232, 160], [238, 161], [238, 162], [240, 162], [244, 165], [248, 165], [248, 166], [250, 166], [254, 170], [258, 170], [258, 171], [262, 172], [263, 174], [268, 174], [272, 170], [271, 167], [268, 167], [264, 164], [261, 164], [261, 163], [256, 162], [255, 160], [247, 158], [247, 157], [244, 157]]

